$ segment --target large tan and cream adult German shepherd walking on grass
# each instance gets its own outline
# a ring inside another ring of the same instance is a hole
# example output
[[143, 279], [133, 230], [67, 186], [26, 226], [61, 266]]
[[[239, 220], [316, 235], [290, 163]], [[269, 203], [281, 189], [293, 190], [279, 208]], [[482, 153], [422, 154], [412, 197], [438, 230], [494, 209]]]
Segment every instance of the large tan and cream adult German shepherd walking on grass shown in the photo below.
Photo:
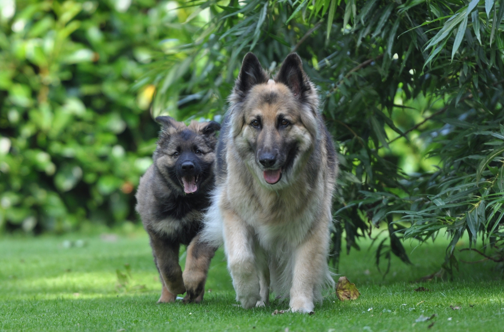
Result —
[[334, 286], [327, 259], [338, 173], [316, 88], [297, 54], [269, 80], [248, 53], [229, 104], [203, 237], [223, 241], [242, 307], [268, 304], [271, 285], [293, 312], [311, 312]]

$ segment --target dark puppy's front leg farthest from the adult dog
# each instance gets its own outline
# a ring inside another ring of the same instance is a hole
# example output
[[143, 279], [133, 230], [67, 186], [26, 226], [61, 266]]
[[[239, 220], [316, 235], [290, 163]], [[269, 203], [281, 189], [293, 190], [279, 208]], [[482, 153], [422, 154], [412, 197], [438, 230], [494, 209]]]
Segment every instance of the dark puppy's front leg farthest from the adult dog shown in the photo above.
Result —
[[185, 293], [182, 269], [178, 264], [178, 243], [169, 242], [155, 233], [149, 232], [152, 253], [158, 268], [163, 288], [158, 303], [174, 302], [177, 294]]

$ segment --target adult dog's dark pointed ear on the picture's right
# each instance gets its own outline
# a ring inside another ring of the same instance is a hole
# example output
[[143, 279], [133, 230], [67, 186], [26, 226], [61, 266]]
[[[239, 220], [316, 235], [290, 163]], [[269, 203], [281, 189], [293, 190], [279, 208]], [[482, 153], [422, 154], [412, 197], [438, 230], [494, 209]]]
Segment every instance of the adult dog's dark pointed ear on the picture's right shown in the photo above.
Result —
[[297, 53], [287, 55], [275, 77], [275, 82], [285, 84], [297, 98], [302, 98], [311, 89], [303, 63]]

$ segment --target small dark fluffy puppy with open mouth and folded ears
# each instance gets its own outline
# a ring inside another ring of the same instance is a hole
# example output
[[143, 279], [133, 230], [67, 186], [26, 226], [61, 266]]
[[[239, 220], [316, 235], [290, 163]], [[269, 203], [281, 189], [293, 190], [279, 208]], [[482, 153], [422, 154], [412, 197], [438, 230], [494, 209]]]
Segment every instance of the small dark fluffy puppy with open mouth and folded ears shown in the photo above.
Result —
[[[154, 262], [161, 277], [158, 302], [201, 302], [210, 260], [216, 247], [200, 241], [203, 211], [214, 188], [217, 139], [215, 121], [192, 121], [186, 126], [169, 116], [158, 116], [162, 130], [154, 163], [140, 179], [137, 212], [149, 234]], [[180, 244], [187, 245], [185, 270], [178, 264]]]

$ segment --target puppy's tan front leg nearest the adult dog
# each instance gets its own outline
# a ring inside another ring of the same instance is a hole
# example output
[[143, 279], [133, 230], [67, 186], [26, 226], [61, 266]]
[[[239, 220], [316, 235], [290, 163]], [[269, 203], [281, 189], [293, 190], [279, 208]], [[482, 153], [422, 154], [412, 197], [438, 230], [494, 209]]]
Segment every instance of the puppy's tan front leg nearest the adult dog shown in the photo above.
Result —
[[210, 260], [215, 255], [216, 249], [206, 242], [201, 242], [199, 234], [187, 246], [185, 269], [182, 273], [187, 290], [184, 303], [200, 303], [203, 300]]

